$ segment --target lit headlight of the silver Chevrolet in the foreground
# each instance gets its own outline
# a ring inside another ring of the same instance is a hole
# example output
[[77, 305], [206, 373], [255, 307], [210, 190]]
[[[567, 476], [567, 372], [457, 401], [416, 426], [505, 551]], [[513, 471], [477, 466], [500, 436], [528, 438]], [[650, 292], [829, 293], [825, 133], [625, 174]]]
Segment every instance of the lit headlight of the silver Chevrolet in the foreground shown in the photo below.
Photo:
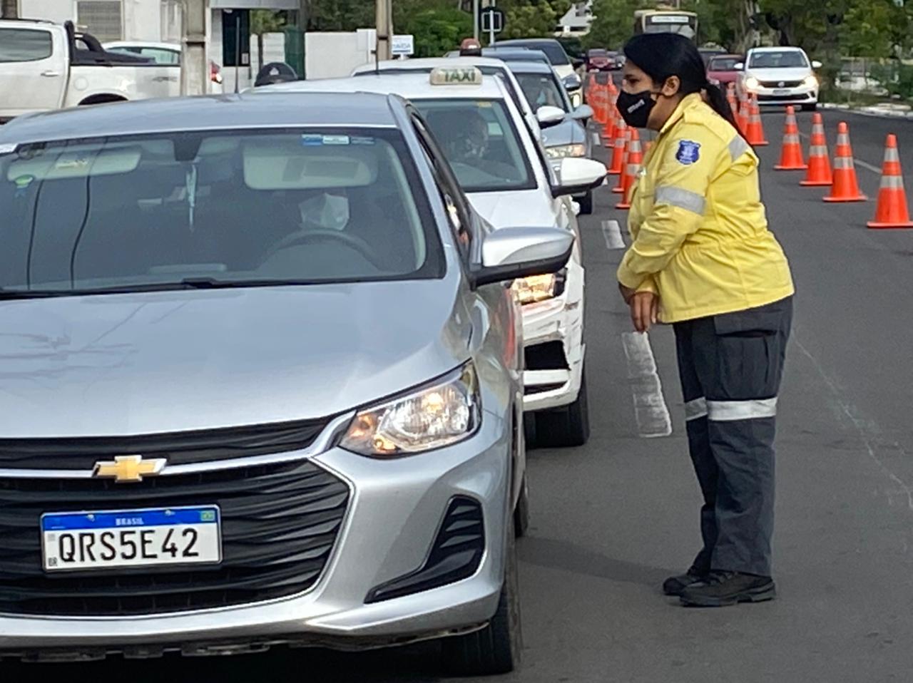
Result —
[[355, 415], [340, 446], [370, 457], [423, 453], [472, 436], [480, 418], [476, 369], [467, 363], [432, 384]]

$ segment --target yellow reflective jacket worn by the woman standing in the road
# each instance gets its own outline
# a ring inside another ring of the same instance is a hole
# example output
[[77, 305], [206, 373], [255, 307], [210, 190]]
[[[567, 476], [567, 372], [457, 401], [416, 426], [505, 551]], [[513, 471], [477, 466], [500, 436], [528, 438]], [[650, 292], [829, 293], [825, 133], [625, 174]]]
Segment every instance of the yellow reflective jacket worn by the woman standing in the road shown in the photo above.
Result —
[[681, 101], [646, 153], [628, 230], [634, 242], [618, 281], [655, 291], [663, 322], [752, 309], [794, 291], [767, 229], [758, 157], [698, 94]]

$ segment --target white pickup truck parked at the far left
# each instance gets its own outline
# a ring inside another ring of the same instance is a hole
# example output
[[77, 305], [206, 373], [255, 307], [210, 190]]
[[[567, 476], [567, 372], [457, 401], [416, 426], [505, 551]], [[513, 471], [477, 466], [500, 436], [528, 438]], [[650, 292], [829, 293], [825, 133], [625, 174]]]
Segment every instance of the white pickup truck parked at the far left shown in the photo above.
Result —
[[73, 24], [0, 19], [0, 121], [80, 104], [167, 97], [180, 72], [108, 52]]

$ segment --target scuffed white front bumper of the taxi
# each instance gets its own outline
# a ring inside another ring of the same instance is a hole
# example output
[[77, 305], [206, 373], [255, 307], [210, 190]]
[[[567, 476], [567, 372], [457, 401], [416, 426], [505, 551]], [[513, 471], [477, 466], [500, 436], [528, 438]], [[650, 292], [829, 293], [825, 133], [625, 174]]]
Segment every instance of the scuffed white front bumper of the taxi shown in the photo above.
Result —
[[580, 394], [585, 355], [583, 278], [582, 266], [572, 259], [560, 297], [523, 307], [526, 412], [571, 405]]

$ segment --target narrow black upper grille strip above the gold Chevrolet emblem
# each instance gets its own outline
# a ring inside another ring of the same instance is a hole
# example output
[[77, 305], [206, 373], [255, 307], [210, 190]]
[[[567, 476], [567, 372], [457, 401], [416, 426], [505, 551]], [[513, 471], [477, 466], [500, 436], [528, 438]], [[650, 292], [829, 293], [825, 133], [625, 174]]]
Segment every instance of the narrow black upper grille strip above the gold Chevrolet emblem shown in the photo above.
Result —
[[330, 418], [272, 425], [204, 429], [141, 436], [0, 438], [0, 468], [91, 469], [103, 457], [167, 457], [187, 465], [309, 447]]

